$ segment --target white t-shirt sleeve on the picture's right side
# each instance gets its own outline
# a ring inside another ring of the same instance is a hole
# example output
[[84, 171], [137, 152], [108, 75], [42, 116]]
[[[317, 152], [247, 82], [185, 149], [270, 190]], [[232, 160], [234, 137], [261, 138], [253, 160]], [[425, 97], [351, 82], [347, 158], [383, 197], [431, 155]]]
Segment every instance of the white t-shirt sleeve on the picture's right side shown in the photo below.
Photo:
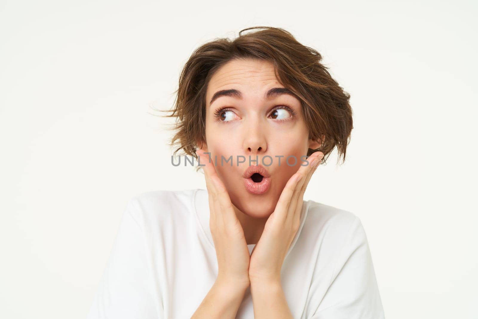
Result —
[[311, 319], [383, 319], [367, 236], [358, 217], [338, 253], [330, 285]]

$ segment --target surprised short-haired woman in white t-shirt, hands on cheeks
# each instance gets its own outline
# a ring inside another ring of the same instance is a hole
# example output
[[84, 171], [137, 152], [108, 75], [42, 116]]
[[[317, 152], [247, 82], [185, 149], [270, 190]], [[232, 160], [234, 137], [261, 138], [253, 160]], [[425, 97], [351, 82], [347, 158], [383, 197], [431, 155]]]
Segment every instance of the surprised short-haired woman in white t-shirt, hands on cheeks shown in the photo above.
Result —
[[324, 155], [345, 160], [349, 95], [317, 51], [257, 28], [185, 64], [172, 144], [207, 190], [130, 200], [88, 318], [384, 317], [359, 218], [303, 200]]

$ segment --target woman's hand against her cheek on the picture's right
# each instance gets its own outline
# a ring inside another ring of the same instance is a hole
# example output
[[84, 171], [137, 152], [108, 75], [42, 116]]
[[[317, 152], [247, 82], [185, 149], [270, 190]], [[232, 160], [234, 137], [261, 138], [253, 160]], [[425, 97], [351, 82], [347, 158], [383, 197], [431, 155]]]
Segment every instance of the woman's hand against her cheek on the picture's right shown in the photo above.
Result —
[[250, 256], [251, 284], [257, 281], [280, 282], [282, 264], [299, 230], [305, 188], [323, 157], [321, 152], [311, 154], [307, 158], [309, 165], [301, 166], [282, 190], [274, 212], [267, 219], [261, 238]]

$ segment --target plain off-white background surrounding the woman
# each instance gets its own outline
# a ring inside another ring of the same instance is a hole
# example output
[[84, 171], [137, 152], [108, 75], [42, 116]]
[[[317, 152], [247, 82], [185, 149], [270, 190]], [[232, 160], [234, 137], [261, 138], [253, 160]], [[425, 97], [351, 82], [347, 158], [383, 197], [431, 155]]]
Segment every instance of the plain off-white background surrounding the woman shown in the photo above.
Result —
[[351, 95], [304, 199], [367, 232], [388, 319], [478, 318], [475, 1], [0, 1], [0, 317], [85, 318], [128, 200], [206, 188], [168, 110], [199, 45], [281, 27]]

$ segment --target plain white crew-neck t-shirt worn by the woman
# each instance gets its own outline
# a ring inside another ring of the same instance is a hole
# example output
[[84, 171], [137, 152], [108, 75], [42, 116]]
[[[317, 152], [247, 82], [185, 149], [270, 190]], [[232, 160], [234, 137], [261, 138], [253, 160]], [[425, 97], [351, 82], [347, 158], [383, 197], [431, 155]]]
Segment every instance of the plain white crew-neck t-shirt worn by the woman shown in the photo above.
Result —
[[[205, 189], [131, 198], [88, 319], [191, 318], [217, 277], [208, 200]], [[384, 318], [359, 218], [308, 200], [300, 220], [281, 272], [293, 318]], [[254, 318], [250, 287], [236, 318]]]

